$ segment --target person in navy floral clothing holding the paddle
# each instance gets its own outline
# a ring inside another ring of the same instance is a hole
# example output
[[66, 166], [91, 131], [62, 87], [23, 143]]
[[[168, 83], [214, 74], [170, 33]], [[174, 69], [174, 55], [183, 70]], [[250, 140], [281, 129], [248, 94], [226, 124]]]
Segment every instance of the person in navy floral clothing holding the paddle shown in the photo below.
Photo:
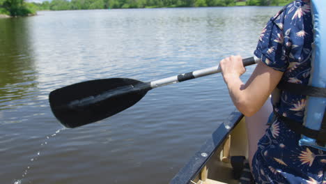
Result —
[[[275, 89], [280, 82], [309, 84], [313, 43], [310, 11], [309, 0], [295, 0], [267, 22], [254, 52], [261, 61], [245, 84], [240, 79], [245, 72], [241, 56], [220, 61], [231, 99], [244, 116], [258, 112], [272, 93], [275, 113], [303, 121], [306, 95], [275, 93]], [[251, 162], [254, 181], [326, 184], [326, 151], [300, 146], [301, 135], [278, 116], [268, 121], [268, 125], [267, 130], [261, 130], [265, 133]]]

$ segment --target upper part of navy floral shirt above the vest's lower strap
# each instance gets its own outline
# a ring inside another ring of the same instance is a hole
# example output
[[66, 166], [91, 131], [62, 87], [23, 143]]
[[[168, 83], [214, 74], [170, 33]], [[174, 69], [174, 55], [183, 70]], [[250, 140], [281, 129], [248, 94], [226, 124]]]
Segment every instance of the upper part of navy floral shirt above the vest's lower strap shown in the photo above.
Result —
[[[286, 82], [309, 82], [313, 24], [311, 7], [306, 2], [294, 1], [272, 17], [262, 31], [254, 53], [267, 66], [284, 72], [281, 80]], [[283, 91], [274, 110], [283, 116], [302, 121], [305, 106], [305, 95]]]

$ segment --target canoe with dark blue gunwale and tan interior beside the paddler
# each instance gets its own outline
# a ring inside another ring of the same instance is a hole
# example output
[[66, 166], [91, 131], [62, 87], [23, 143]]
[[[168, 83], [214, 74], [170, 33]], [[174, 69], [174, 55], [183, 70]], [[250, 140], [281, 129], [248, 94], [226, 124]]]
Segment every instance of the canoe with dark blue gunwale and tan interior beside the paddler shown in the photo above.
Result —
[[248, 158], [244, 116], [232, 112], [192, 158], [172, 178], [171, 184], [239, 183], [231, 158]]

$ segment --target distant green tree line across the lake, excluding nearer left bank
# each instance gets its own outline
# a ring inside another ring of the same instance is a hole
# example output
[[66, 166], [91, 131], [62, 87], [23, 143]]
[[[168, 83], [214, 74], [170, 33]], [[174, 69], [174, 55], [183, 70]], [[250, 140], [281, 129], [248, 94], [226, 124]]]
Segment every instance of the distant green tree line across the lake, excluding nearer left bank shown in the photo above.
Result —
[[[1, 0], [0, 0], [1, 1]], [[270, 6], [287, 3], [290, 0], [247, 0], [242, 5]], [[52, 0], [36, 3], [40, 10], [89, 10], [110, 8], [174, 8], [235, 6], [236, 0]]]

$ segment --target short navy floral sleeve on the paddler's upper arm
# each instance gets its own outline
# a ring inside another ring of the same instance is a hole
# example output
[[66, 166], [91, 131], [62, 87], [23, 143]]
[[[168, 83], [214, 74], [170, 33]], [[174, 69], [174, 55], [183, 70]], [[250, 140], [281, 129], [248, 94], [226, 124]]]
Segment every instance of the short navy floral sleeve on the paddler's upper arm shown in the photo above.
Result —
[[284, 41], [284, 16], [282, 9], [267, 22], [258, 40], [254, 54], [267, 66], [285, 72], [288, 68], [286, 55], [289, 53]]

